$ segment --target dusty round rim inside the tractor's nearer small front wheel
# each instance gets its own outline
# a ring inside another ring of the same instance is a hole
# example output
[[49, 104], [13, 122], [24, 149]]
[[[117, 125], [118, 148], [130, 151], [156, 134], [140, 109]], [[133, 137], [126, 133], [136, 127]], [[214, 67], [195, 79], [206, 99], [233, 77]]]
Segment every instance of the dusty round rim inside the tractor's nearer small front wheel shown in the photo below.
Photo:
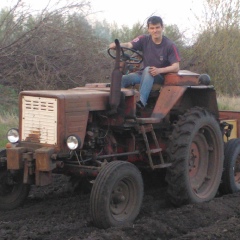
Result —
[[135, 187], [131, 179], [119, 181], [112, 189], [110, 210], [113, 218], [123, 221], [131, 215], [135, 204]]

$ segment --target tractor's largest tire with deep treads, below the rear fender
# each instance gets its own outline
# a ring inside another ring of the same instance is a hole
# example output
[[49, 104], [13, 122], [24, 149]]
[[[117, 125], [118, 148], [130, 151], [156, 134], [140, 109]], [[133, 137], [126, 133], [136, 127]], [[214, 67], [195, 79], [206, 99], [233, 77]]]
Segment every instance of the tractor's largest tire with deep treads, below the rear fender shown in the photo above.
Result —
[[223, 170], [223, 139], [215, 117], [205, 109], [189, 110], [177, 122], [169, 144], [168, 196], [181, 206], [215, 197]]

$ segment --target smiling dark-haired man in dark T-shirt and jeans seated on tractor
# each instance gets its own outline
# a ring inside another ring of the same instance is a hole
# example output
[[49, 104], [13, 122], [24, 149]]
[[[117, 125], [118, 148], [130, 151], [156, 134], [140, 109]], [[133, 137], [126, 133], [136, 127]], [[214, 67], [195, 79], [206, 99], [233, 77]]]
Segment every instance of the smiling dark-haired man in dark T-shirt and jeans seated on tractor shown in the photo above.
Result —
[[[164, 82], [164, 74], [179, 71], [180, 55], [174, 42], [163, 35], [163, 21], [152, 16], [147, 21], [148, 33], [140, 35], [130, 42], [121, 43], [121, 47], [132, 48], [143, 53], [143, 68], [140, 71], [124, 75], [121, 87], [140, 83], [140, 100], [137, 107], [144, 108], [153, 83]], [[115, 48], [111, 43], [109, 48]]]

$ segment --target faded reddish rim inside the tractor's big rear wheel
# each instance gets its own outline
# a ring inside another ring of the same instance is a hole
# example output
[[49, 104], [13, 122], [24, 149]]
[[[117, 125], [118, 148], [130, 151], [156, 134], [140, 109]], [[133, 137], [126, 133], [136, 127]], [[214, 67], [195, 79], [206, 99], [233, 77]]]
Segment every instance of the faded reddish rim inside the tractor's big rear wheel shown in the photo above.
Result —
[[189, 181], [192, 191], [201, 199], [208, 197], [215, 182], [217, 144], [211, 129], [201, 128], [195, 135], [188, 161]]

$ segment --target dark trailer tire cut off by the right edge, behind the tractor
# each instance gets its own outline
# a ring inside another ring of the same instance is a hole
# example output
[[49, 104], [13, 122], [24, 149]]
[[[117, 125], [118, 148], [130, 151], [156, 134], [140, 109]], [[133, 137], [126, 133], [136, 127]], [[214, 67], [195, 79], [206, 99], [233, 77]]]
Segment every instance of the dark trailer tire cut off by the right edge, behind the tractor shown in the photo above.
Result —
[[222, 194], [240, 191], [240, 139], [229, 140], [224, 148], [224, 170], [220, 185]]

